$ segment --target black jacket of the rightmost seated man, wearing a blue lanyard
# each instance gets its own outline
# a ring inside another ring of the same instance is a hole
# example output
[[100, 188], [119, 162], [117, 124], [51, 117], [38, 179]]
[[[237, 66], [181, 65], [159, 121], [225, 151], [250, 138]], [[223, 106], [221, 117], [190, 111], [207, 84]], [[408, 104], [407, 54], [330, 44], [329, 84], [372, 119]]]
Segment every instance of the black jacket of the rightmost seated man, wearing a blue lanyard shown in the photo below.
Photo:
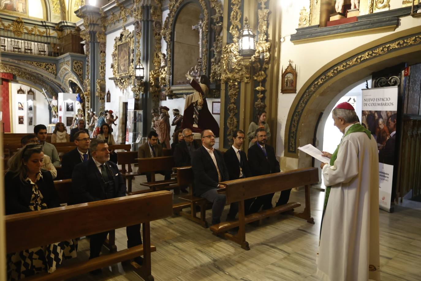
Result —
[[250, 146], [248, 149], [248, 165], [253, 176], [267, 175], [270, 173], [279, 173], [279, 162], [275, 157], [275, 151], [272, 146], [265, 144], [267, 159], [258, 143]]

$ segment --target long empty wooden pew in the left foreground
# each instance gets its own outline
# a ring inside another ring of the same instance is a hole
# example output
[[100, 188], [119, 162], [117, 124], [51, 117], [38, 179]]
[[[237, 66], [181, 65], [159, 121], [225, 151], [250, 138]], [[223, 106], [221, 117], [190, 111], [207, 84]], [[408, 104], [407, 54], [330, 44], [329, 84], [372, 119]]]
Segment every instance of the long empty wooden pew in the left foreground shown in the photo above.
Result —
[[145, 280], [154, 280], [151, 252], [156, 251], [156, 247], [151, 245], [149, 222], [171, 216], [171, 200], [171, 192], [159, 191], [5, 216], [6, 252], [13, 253], [141, 223], [143, 245], [83, 262], [64, 262], [51, 274], [40, 273], [25, 280], [63, 280], [140, 255], [144, 258], [143, 265], [139, 267], [132, 262], [134, 270]]

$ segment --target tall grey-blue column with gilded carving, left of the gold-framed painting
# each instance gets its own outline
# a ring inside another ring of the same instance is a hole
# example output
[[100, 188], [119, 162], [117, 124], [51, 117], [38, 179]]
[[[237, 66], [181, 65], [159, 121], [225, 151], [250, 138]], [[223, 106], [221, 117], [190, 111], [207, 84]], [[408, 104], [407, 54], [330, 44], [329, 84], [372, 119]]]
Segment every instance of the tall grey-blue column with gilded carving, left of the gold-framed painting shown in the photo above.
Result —
[[[84, 101], [85, 101], [85, 116], [88, 116], [88, 111], [92, 108], [94, 111], [99, 113], [100, 109], [103, 109], [104, 99], [99, 99], [97, 93], [97, 79], [99, 77], [99, 60], [100, 60], [100, 46], [98, 41], [97, 33], [101, 32], [101, 14], [98, 7], [85, 5], [79, 10], [75, 11], [75, 14], [83, 19], [83, 27], [85, 29], [85, 55], [86, 55], [86, 76], [83, 82], [84, 87]], [[103, 95], [101, 95], [103, 96]], [[102, 107], [102, 108], [101, 108]]]

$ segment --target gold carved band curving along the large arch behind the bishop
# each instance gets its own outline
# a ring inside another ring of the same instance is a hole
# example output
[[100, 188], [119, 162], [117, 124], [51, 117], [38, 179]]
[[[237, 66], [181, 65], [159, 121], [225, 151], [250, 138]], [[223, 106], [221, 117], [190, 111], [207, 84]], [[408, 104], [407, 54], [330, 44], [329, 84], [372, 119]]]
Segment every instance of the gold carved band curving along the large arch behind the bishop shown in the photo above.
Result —
[[363, 54], [359, 54], [357, 56], [349, 58], [346, 61], [343, 61], [333, 66], [332, 68], [327, 70], [325, 73], [323, 73], [321, 76], [319, 76], [317, 80], [314, 81], [305, 90], [305, 92], [301, 96], [294, 110], [292, 120], [290, 123], [290, 131], [288, 134], [288, 152], [296, 153], [296, 147], [297, 147], [296, 137], [297, 137], [298, 124], [300, 122], [301, 115], [308, 101], [314, 94], [314, 92], [316, 92], [317, 89], [319, 89], [320, 86], [322, 86], [322, 84], [325, 84], [327, 81], [337, 76], [339, 73], [344, 72], [345, 70], [348, 70], [349, 68], [352, 68], [356, 65], [359, 65], [360, 63], [365, 62], [368, 59], [380, 57], [392, 51], [396, 51], [398, 49], [402, 49], [408, 46], [413, 46], [413, 45], [418, 45], [418, 44], [421, 44], [421, 34], [404, 38], [404, 39], [398, 39], [392, 43], [387, 43], [385, 45], [378, 46], [375, 49], [370, 49], [368, 51], [365, 51]]

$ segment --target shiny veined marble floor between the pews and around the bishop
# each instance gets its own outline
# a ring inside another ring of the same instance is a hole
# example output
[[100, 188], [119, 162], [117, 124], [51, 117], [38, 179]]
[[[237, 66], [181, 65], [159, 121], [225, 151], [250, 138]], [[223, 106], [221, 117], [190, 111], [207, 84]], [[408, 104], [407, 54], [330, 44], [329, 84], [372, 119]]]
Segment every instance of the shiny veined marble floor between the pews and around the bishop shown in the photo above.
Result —
[[[136, 177], [133, 190], [140, 189], [141, 181], [146, 177]], [[317, 281], [315, 253], [323, 196], [320, 190], [311, 190], [315, 224], [281, 214], [265, 219], [258, 227], [248, 225], [250, 251], [180, 216], [152, 222], [151, 240], [157, 247], [152, 253], [152, 275], [156, 281]], [[278, 197], [275, 194], [274, 202]], [[304, 202], [304, 190], [291, 192], [292, 201]], [[228, 209], [226, 206], [223, 219]], [[211, 212], [206, 213], [210, 222]], [[125, 229], [117, 230], [117, 249], [125, 249], [126, 241]], [[88, 246], [87, 239], [80, 240], [77, 259], [88, 258]], [[421, 203], [404, 200], [394, 213], [380, 210], [380, 264], [382, 281], [421, 280]], [[104, 267], [102, 272], [69, 280], [143, 280], [130, 266], [121, 264]]]

